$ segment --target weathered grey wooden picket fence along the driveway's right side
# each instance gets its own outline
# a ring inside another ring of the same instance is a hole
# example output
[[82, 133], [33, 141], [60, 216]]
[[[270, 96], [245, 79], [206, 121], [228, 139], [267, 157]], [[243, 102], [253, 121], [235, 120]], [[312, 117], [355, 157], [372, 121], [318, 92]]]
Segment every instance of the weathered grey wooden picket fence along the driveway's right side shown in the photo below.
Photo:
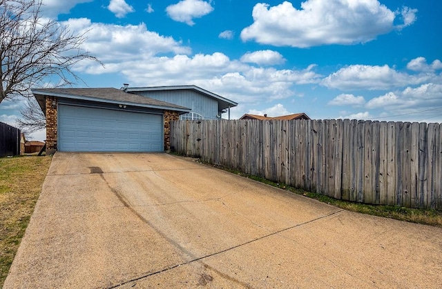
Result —
[[442, 210], [442, 126], [357, 120], [171, 123], [171, 148], [336, 199]]

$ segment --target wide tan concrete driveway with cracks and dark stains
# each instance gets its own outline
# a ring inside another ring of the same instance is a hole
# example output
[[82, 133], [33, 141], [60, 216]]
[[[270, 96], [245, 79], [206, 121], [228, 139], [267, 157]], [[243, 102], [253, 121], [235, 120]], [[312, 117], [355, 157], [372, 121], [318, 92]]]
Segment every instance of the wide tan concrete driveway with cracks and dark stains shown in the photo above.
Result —
[[164, 154], [57, 153], [4, 288], [442, 288], [442, 230]]

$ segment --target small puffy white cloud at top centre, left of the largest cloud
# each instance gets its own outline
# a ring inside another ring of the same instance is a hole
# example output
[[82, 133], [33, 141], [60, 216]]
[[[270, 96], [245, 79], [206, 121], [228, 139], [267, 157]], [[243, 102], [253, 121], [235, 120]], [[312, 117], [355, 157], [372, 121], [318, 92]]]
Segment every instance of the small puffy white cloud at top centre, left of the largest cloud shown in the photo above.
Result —
[[203, 17], [212, 11], [211, 4], [202, 0], [182, 0], [166, 8], [166, 12], [171, 19], [184, 22], [189, 26], [195, 25], [194, 18]]

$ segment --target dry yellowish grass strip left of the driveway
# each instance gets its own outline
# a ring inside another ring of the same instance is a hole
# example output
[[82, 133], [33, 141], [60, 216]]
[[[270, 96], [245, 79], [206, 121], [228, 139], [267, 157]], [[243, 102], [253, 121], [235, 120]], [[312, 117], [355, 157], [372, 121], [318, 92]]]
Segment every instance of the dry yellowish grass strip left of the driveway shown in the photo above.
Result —
[[0, 159], [0, 288], [34, 211], [50, 161], [51, 157]]

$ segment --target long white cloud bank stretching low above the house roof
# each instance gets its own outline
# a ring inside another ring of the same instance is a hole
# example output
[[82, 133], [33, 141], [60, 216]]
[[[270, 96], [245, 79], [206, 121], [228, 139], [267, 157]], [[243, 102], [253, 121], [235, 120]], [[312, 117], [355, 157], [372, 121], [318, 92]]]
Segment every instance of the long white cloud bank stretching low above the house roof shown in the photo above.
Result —
[[248, 108], [241, 112], [252, 105], [295, 97], [302, 93], [296, 91], [298, 86], [317, 84], [323, 77], [316, 73], [314, 64], [300, 69], [276, 69], [231, 59], [222, 52], [192, 54], [182, 41], [149, 31], [144, 23], [122, 26], [83, 18], [64, 24], [73, 32], [87, 32], [81, 48], [104, 63], [103, 68], [95, 62], [81, 61], [73, 68], [75, 72], [113, 73], [131, 86], [195, 84], [243, 103]]

